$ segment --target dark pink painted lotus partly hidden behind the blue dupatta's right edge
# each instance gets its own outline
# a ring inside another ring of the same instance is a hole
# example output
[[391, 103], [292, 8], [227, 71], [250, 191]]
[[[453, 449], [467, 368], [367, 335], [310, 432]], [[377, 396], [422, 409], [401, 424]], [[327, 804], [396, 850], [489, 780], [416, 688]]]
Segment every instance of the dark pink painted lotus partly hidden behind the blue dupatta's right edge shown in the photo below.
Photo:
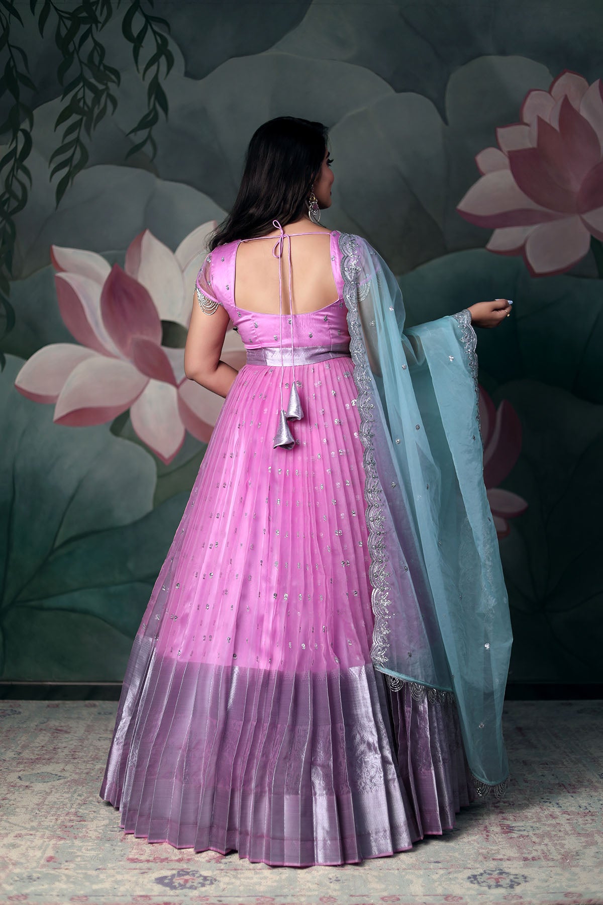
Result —
[[483, 386], [479, 388], [479, 417], [484, 444], [485, 489], [496, 534], [504, 538], [511, 530], [508, 519], [521, 515], [528, 505], [517, 493], [498, 487], [519, 458], [522, 424], [513, 405], [506, 399], [495, 408]]

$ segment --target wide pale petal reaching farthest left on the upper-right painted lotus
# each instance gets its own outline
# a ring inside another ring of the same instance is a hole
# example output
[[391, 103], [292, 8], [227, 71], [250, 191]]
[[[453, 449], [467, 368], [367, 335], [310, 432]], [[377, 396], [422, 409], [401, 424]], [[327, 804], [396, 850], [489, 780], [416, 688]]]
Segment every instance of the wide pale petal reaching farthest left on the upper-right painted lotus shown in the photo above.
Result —
[[492, 229], [540, 224], [561, 216], [524, 195], [509, 170], [496, 170], [481, 176], [461, 199], [457, 211], [469, 223]]

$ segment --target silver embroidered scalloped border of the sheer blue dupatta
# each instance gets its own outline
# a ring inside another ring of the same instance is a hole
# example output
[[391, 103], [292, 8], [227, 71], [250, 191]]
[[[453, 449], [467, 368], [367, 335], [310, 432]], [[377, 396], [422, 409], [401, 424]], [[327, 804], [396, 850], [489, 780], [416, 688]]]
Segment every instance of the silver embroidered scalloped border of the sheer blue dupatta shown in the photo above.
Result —
[[[374, 628], [372, 633], [371, 659], [375, 669], [383, 672], [391, 691], [400, 691], [405, 685], [410, 687], [410, 693], [415, 700], [424, 700], [430, 703], [451, 701], [456, 704], [454, 692], [433, 688], [417, 681], [400, 679], [391, 675], [383, 665], [387, 660], [387, 637], [390, 633], [389, 620], [389, 585], [387, 582], [387, 565], [385, 558], [385, 542], [383, 539], [382, 515], [382, 484], [377, 472], [375, 454], [373, 448], [373, 423], [375, 420], [375, 405], [372, 402], [372, 375], [368, 365], [368, 357], [363, 340], [363, 330], [358, 312], [358, 300], [363, 300], [368, 292], [368, 285], [359, 285], [358, 275], [362, 268], [359, 264], [357, 237], [352, 233], [340, 233], [339, 250], [341, 252], [341, 272], [344, 278], [344, 301], [347, 308], [347, 324], [350, 332], [350, 355], [353, 360], [353, 379], [358, 390], [356, 402], [360, 412], [360, 440], [363, 443], [363, 468], [364, 468], [364, 500], [366, 503], [366, 523], [368, 529], [368, 548], [371, 557], [370, 578], [372, 584], [372, 613], [374, 615]], [[468, 367], [476, 384], [476, 398], [479, 399], [477, 386], [477, 356], [476, 333], [471, 326], [469, 311], [459, 311], [454, 317], [461, 327], [461, 343], [466, 352]], [[480, 780], [473, 773], [471, 780], [476, 794], [482, 798], [495, 795], [502, 798], [509, 783], [507, 776], [502, 783], [489, 785]]]

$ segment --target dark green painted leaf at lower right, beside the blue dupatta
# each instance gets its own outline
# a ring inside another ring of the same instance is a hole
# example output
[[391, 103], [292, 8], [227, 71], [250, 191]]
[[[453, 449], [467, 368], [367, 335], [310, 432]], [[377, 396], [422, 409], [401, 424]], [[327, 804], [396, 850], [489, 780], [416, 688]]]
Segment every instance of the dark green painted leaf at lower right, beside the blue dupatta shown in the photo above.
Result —
[[511, 681], [600, 680], [603, 406], [533, 380], [500, 387], [523, 424], [508, 490], [528, 500], [501, 541], [513, 618]]

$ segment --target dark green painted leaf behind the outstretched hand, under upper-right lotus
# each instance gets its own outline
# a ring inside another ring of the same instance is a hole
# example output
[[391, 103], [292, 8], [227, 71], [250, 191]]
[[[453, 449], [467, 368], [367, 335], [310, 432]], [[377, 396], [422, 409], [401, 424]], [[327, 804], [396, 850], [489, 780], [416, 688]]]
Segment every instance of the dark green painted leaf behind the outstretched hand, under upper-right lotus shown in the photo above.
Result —
[[513, 315], [477, 330], [480, 375], [532, 377], [603, 404], [603, 281], [532, 278], [521, 258], [475, 249], [430, 261], [400, 278], [410, 325], [476, 301], [513, 299]]

